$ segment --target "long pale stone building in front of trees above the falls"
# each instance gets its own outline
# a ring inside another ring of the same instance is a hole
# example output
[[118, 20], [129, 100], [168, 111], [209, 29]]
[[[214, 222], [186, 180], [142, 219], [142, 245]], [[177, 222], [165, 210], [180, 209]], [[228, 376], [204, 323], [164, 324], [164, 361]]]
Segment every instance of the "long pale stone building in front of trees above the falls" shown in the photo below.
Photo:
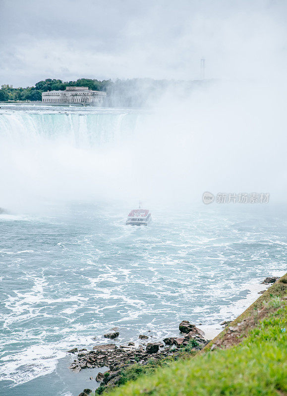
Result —
[[66, 87], [65, 91], [48, 91], [42, 93], [42, 102], [77, 103], [101, 105], [106, 92], [92, 91], [88, 87]]

